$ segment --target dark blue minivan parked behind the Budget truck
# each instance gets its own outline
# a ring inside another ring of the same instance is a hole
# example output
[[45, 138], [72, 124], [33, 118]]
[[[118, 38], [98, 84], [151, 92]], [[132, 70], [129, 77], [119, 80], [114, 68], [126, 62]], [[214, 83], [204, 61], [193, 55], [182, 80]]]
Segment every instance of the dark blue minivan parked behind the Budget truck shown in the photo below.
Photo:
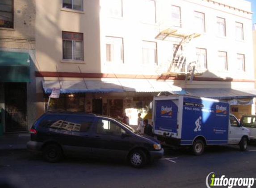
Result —
[[48, 162], [63, 155], [124, 159], [135, 168], [160, 159], [164, 149], [159, 142], [139, 135], [133, 128], [113, 118], [75, 112], [43, 114], [30, 129], [29, 151], [40, 151]]

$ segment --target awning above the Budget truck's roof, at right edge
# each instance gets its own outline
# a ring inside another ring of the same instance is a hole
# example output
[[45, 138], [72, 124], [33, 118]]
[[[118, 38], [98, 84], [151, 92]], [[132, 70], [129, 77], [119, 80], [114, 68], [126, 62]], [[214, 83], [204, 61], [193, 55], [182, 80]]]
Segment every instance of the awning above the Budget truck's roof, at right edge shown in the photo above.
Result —
[[235, 89], [185, 89], [189, 94], [215, 99], [254, 98], [256, 91]]

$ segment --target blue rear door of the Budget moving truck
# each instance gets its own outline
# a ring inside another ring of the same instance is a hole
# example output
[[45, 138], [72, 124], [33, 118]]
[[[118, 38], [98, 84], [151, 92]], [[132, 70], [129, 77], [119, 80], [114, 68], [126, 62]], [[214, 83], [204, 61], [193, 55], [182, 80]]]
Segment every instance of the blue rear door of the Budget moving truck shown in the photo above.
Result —
[[178, 99], [155, 100], [154, 133], [170, 136], [177, 132]]

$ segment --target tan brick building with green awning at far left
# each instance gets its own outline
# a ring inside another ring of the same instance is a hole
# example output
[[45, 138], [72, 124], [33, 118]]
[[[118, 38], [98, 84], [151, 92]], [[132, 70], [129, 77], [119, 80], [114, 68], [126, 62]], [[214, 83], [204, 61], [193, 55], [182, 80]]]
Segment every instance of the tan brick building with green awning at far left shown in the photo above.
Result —
[[35, 1], [0, 1], [0, 135], [28, 131], [35, 107]]

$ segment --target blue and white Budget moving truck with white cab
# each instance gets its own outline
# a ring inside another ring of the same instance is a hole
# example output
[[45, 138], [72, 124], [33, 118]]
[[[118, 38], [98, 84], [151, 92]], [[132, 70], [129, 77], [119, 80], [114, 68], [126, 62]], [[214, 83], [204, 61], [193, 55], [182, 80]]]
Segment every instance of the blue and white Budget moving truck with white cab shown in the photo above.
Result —
[[201, 155], [205, 145], [239, 144], [246, 150], [249, 130], [229, 114], [229, 104], [189, 95], [154, 97], [154, 134], [160, 141], [192, 146]]

